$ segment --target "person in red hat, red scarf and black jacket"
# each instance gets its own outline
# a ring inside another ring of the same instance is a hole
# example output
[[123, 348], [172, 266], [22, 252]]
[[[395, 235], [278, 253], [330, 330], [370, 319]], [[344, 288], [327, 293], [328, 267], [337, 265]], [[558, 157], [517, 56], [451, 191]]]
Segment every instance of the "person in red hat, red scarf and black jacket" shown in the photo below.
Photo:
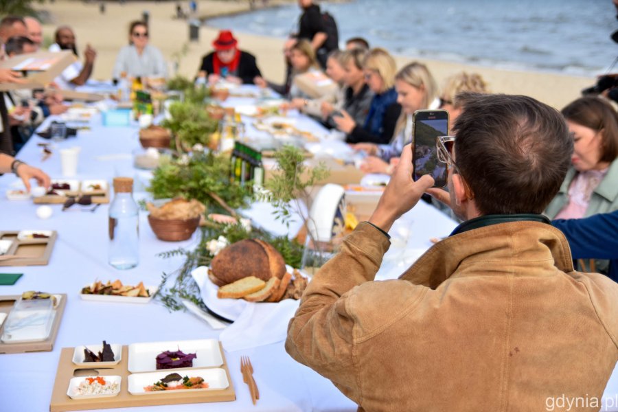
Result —
[[208, 82], [220, 78], [237, 84], [253, 84], [253, 79], [262, 76], [255, 56], [238, 49], [238, 41], [229, 30], [221, 30], [212, 45], [215, 49], [204, 56], [198, 77], [208, 76]]

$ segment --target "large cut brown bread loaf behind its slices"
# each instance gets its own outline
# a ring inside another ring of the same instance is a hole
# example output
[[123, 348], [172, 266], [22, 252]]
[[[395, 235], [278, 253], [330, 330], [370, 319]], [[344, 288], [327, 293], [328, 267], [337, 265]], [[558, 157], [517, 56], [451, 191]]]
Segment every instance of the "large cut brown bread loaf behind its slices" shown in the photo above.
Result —
[[217, 253], [211, 262], [209, 277], [214, 284], [222, 286], [248, 276], [268, 282], [271, 277], [281, 279], [285, 273], [282, 255], [271, 244], [245, 239]]

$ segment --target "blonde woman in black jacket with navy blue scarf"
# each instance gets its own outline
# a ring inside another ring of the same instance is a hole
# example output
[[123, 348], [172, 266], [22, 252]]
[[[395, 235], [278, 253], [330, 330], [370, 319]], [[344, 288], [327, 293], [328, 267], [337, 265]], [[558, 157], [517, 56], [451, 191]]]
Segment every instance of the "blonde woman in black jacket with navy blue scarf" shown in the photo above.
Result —
[[346, 133], [347, 143], [388, 144], [395, 133], [401, 105], [395, 91], [395, 59], [385, 49], [371, 49], [363, 61], [365, 81], [376, 93], [371, 99], [365, 124], [356, 124], [345, 110], [332, 119], [337, 128]]

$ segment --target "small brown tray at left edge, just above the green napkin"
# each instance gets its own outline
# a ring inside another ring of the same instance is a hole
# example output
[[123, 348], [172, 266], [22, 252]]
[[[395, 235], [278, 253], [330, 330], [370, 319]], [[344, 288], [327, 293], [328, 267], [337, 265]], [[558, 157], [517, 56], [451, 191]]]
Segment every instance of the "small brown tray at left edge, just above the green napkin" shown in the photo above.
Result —
[[35, 266], [49, 263], [58, 232], [52, 231], [49, 238], [17, 239], [19, 231], [0, 231], [0, 239], [12, 240], [13, 244], [0, 255], [0, 266]]

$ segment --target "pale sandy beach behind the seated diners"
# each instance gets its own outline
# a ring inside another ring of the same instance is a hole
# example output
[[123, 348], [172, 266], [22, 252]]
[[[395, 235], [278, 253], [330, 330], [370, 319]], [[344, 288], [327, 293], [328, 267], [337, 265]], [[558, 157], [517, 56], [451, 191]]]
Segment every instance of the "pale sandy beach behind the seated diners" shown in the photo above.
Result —
[[[293, 0], [271, 0], [268, 3], [276, 5], [290, 1]], [[260, 4], [261, 1], [255, 3]], [[187, 1], [181, 4], [187, 8]], [[199, 41], [189, 42], [189, 24], [186, 20], [174, 19], [175, 7], [175, 2], [130, 1], [124, 4], [113, 2], [106, 3], [106, 12], [100, 14], [97, 2], [56, 0], [53, 4], [45, 3], [41, 6], [41, 10], [47, 11], [50, 16], [50, 21], [43, 25], [43, 34], [52, 39], [58, 25], [71, 25], [76, 32], [79, 48], [89, 43], [97, 50], [93, 78], [105, 80], [111, 76], [118, 50], [128, 41], [128, 23], [141, 19], [142, 13], [148, 11], [150, 44], [161, 49], [170, 62], [170, 68], [177, 66], [178, 73], [192, 77], [200, 65], [202, 56], [211, 51], [211, 41], [216, 37], [218, 30], [202, 26]], [[204, 19], [249, 10], [249, 1], [199, 0], [197, 17]], [[339, 17], [339, 25], [344, 24], [345, 20]], [[275, 82], [282, 81], [284, 78], [282, 39], [242, 33], [236, 36], [239, 47], [258, 58], [258, 65], [266, 78]], [[501, 70], [413, 58], [413, 56], [397, 57], [399, 67], [412, 60], [426, 63], [439, 83], [457, 71], [474, 71], [485, 78], [494, 93], [530, 95], [556, 108], [562, 108], [578, 98], [581, 89], [595, 82], [594, 78]]]

